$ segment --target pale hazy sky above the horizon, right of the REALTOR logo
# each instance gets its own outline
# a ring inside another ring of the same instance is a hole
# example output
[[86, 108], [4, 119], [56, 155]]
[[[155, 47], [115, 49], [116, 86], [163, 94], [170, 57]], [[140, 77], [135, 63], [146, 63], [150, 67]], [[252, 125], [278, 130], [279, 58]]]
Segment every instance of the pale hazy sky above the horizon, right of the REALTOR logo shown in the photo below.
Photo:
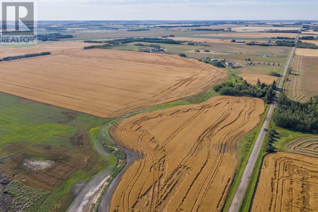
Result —
[[318, 20], [318, 0], [38, 0], [38, 20]]

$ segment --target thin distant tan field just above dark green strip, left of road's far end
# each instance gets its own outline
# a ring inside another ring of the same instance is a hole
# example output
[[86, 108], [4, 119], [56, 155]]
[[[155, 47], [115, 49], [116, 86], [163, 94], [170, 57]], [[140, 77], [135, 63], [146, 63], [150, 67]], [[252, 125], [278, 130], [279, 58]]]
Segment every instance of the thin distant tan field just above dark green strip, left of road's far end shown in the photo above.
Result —
[[267, 33], [267, 32], [229, 32], [222, 34], [204, 34], [201, 36], [216, 36], [216, 37], [241, 37], [241, 38], [270, 38], [270, 37], [289, 37], [296, 38], [296, 33]]

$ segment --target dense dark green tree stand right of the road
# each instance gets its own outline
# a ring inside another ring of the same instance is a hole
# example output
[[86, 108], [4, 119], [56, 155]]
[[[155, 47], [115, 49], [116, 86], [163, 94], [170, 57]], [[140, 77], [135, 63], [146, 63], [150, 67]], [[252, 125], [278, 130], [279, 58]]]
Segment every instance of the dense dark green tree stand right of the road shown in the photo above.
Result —
[[318, 133], [318, 96], [301, 103], [280, 92], [277, 103], [278, 108], [273, 113], [273, 121], [277, 126]]

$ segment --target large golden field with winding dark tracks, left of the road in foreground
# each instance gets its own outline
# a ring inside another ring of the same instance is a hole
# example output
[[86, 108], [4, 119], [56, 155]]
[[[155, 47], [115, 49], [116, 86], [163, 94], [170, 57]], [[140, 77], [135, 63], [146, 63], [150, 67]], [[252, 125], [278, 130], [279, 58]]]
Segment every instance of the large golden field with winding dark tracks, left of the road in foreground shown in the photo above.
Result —
[[263, 111], [260, 99], [218, 96], [115, 124], [111, 137], [138, 159], [116, 188], [110, 211], [221, 211], [237, 143]]

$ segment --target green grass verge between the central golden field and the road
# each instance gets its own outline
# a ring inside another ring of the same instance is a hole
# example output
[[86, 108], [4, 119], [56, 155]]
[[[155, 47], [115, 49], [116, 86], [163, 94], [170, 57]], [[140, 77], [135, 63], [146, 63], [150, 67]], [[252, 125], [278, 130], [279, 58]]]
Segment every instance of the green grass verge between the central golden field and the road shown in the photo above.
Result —
[[[261, 114], [261, 116], [260, 116], [261, 121], [260, 121], [259, 125], [254, 130], [252, 130], [251, 132], [246, 134], [238, 142], [238, 146], [239, 146], [239, 164], [238, 164], [238, 167], [236, 169], [236, 172], [235, 172], [235, 175], [234, 175], [234, 180], [232, 181], [232, 185], [231, 185], [230, 191], [227, 194], [226, 201], [225, 201], [225, 204], [223, 206], [222, 211], [228, 211], [229, 208], [230, 208], [230, 205], [231, 205], [231, 202], [233, 200], [235, 191], [236, 191], [236, 189], [237, 189], [237, 187], [239, 185], [239, 181], [240, 181], [240, 179], [242, 177], [242, 174], [244, 172], [245, 166], [246, 166], [246, 164], [248, 162], [248, 159], [249, 159], [249, 157], [251, 155], [251, 152], [252, 152], [252, 149], [254, 147], [257, 135], [258, 135], [259, 131], [262, 130], [261, 127], [262, 127], [262, 125], [264, 123], [264, 120], [265, 120], [265, 117], [266, 117], [268, 109], [269, 109], [269, 105], [265, 104], [265, 110], [264, 110], [263, 114]], [[252, 140], [249, 137], [252, 137]]]

